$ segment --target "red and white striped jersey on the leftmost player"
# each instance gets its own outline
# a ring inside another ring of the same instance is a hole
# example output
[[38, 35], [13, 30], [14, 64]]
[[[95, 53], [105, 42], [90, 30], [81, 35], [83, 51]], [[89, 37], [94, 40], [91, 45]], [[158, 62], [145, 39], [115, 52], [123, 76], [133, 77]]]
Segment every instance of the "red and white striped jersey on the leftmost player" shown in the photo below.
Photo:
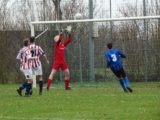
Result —
[[21, 69], [26, 70], [26, 69], [31, 69], [31, 60], [32, 60], [32, 56], [31, 56], [31, 51], [28, 47], [23, 47], [16, 59], [21, 61]]

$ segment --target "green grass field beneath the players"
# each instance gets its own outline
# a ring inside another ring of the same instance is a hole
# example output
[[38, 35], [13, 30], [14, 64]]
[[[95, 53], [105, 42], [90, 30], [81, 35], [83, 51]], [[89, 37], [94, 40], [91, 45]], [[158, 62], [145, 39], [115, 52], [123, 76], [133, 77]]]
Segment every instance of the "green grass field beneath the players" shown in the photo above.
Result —
[[132, 83], [125, 94], [118, 82], [72, 84], [31, 97], [16, 93], [19, 85], [0, 85], [0, 120], [160, 120], [160, 83]]

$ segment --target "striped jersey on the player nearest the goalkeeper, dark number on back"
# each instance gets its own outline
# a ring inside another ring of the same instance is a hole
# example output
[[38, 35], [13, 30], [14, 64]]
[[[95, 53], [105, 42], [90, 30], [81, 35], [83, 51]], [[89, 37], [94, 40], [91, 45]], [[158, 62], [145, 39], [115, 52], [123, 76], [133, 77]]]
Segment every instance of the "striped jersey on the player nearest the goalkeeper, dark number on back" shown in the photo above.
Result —
[[31, 50], [32, 57], [36, 57], [35, 59], [32, 59], [32, 68], [41, 66], [39, 57], [44, 55], [44, 51], [42, 50], [42, 48], [33, 43], [29, 45], [29, 49]]

